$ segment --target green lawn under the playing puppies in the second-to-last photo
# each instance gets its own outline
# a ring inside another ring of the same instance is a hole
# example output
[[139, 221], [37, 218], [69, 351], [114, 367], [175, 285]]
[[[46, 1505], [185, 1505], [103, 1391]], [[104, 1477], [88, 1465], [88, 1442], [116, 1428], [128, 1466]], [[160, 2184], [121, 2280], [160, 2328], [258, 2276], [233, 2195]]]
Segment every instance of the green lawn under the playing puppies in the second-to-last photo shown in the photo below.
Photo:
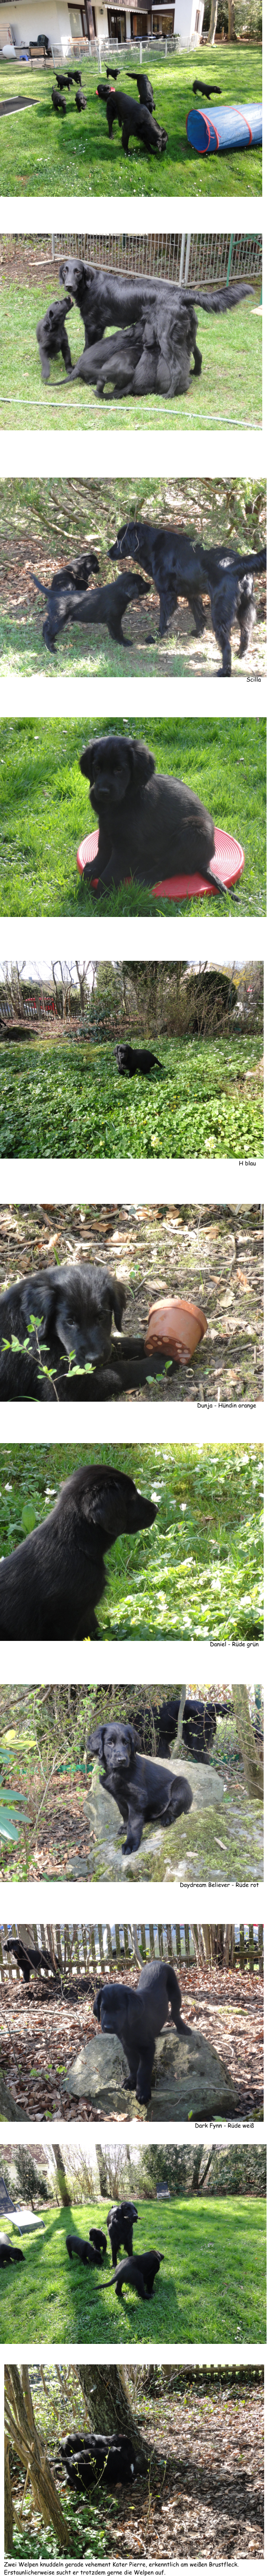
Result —
[[[26, 2249], [23, 2264], [8, 2272], [3, 2269], [0, 2300], [3, 2300], [3, 2342], [31, 2344], [33, 2349], [51, 2347], [51, 2321], [54, 2342], [87, 2344], [105, 2349], [110, 2344], [216, 2344], [241, 2342], [259, 2344], [264, 2339], [264, 2202], [252, 2197], [228, 2200], [190, 2200], [180, 2197], [164, 2202], [164, 2210], [139, 2208], [139, 2228], [134, 2228], [134, 2251], [141, 2254], [154, 2246], [164, 2254], [159, 2267], [151, 2300], [136, 2298], [136, 2290], [123, 2287], [121, 2300], [116, 2290], [105, 2282], [100, 2290], [100, 2269], [82, 2269], [80, 2262], [69, 2262], [64, 2249], [64, 2236], [90, 2236], [90, 2226], [105, 2228], [103, 2200], [98, 2208], [82, 2210], [49, 2210], [44, 2218], [44, 2239], [21, 2239]], [[8, 2226], [3, 2231], [8, 2236]], [[18, 2241], [18, 2239], [13, 2239]], [[121, 2254], [123, 2259], [123, 2254]], [[103, 2257], [103, 2272], [110, 2275], [110, 2246]], [[195, 2329], [198, 2316], [198, 2329]]]

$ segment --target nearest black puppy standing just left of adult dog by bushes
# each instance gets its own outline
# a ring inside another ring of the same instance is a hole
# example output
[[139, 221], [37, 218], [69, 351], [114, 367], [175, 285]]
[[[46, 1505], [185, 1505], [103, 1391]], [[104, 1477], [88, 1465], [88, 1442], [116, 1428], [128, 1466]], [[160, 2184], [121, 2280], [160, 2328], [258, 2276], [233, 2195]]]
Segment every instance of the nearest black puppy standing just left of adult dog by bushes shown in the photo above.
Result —
[[126, 572], [123, 580], [103, 582], [100, 590], [85, 590], [82, 598], [74, 590], [67, 595], [62, 592], [59, 603], [51, 600], [49, 618], [44, 618], [44, 644], [54, 652], [54, 636], [62, 634], [67, 623], [108, 626], [113, 641], [123, 644], [128, 652], [131, 636], [123, 636], [121, 618], [126, 616], [128, 603], [139, 603], [144, 595], [146, 582], [141, 582], [141, 572]]

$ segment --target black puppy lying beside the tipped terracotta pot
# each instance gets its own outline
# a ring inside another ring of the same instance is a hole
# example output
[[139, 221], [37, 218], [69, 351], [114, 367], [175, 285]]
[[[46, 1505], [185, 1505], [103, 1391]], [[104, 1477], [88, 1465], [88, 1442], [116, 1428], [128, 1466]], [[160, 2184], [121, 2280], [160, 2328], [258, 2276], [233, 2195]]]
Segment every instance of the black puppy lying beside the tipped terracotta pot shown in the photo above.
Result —
[[[141, 1334], [121, 1334], [126, 1285], [110, 1270], [62, 1262], [62, 1270], [36, 1270], [13, 1280], [0, 1298], [0, 1396], [3, 1404], [110, 1404], [126, 1386], [157, 1376], [159, 1352], [146, 1358]], [[31, 1316], [36, 1327], [31, 1329]], [[113, 1337], [113, 1319], [118, 1337]], [[28, 1350], [5, 1342], [28, 1337]], [[44, 1345], [44, 1347], [41, 1347]], [[72, 1368], [67, 1376], [69, 1352]], [[41, 1373], [41, 1360], [46, 1370]], [[85, 1376], [90, 1363], [90, 1376]]]

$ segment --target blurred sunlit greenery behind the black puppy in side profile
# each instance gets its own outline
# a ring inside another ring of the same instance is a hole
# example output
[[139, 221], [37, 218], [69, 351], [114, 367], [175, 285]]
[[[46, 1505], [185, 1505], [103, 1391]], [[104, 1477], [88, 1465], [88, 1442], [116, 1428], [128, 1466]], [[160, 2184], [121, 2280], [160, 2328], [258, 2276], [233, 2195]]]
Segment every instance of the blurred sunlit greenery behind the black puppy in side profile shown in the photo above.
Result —
[[[74, 1419], [74, 1417], [72, 1417]], [[103, 1641], [262, 1636], [262, 1450], [244, 1443], [92, 1440], [92, 1466], [131, 1473], [157, 1502], [154, 1528], [118, 1538], [100, 1602]], [[0, 1553], [46, 1520], [59, 1484], [85, 1466], [80, 1443], [3, 1445]]]

